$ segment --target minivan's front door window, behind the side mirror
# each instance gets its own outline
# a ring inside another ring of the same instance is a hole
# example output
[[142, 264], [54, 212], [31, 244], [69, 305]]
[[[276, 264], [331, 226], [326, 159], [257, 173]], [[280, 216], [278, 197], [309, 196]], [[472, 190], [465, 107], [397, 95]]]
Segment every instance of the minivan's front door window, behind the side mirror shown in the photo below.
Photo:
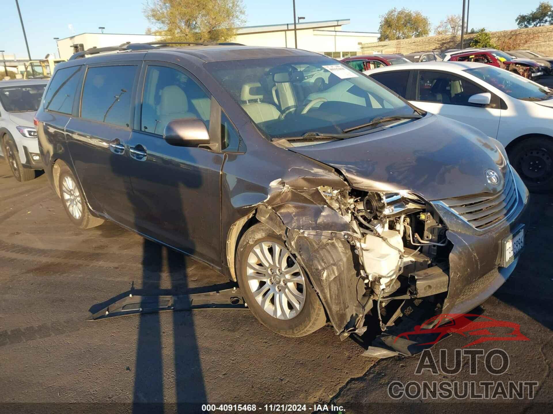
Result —
[[166, 66], [148, 66], [142, 97], [143, 131], [163, 135], [169, 121], [201, 119], [209, 129], [211, 98], [190, 76]]

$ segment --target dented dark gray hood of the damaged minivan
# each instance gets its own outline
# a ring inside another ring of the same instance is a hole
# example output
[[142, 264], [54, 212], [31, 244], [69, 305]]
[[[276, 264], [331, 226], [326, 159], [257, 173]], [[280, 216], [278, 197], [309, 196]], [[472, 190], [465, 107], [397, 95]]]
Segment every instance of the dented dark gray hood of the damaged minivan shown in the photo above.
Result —
[[426, 200], [497, 193], [484, 172], [504, 177], [507, 163], [481, 131], [427, 114], [384, 131], [324, 144], [288, 148], [340, 170], [353, 188], [407, 190]]

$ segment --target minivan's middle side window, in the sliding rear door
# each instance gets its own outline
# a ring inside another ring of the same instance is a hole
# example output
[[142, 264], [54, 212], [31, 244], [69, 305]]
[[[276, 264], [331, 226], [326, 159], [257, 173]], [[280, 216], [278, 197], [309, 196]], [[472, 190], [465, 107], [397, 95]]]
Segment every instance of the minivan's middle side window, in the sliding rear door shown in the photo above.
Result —
[[82, 90], [81, 117], [128, 127], [136, 72], [134, 65], [88, 68]]

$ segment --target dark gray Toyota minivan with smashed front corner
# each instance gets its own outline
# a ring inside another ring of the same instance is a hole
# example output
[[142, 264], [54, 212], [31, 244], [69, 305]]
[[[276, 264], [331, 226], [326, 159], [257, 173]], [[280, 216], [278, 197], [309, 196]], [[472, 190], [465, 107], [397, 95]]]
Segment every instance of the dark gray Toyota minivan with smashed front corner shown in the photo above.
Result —
[[36, 114], [76, 225], [207, 263], [285, 336], [462, 314], [513, 272], [528, 192], [497, 140], [312, 52], [134, 46], [57, 65]]

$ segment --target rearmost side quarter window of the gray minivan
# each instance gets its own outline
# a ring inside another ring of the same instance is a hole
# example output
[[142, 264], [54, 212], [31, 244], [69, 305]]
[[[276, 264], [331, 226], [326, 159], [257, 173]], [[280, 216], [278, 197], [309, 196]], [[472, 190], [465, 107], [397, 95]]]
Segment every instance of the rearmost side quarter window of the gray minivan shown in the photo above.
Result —
[[82, 66], [58, 70], [44, 95], [44, 109], [71, 114]]

